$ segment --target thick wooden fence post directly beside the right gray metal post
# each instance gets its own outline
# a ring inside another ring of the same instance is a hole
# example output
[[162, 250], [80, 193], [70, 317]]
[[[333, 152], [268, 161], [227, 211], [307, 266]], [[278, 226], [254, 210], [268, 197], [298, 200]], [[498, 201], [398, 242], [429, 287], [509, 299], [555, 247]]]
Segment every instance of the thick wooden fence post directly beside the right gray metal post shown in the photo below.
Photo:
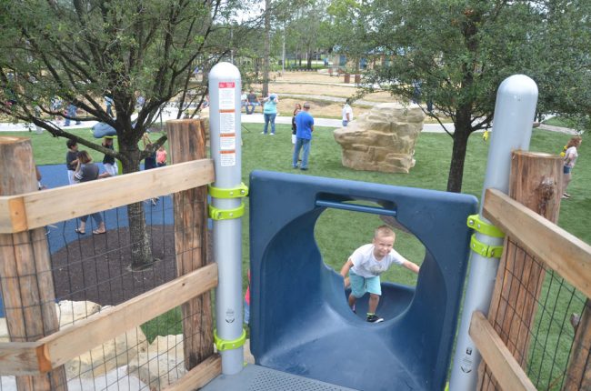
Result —
[[[559, 155], [515, 151], [512, 161], [509, 196], [556, 223], [562, 195], [562, 158]], [[537, 299], [546, 273], [543, 265], [507, 238], [504, 246], [488, 320], [525, 369], [530, 330], [536, 319]], [[497, 388], [484, 361], [478, 373], [479, 390]]]

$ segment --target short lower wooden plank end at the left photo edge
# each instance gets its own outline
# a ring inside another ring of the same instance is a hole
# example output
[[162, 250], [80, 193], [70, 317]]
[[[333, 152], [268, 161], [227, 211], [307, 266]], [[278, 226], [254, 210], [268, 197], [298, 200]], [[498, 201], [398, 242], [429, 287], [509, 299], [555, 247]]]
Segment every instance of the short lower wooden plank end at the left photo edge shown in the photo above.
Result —
[[39, 374], [37, 352], [42, 343], [36, 342], [3, 342], [0, 343], [0, 375], [28, 376]]

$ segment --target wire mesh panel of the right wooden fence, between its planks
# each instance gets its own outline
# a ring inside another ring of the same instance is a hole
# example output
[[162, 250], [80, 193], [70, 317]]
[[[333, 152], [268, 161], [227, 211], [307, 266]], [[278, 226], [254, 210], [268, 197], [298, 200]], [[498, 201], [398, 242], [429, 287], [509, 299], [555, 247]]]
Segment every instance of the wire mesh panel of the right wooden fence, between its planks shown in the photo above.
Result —
[[[488, 319], [537, 389], [561, 390], [586, 296], [510, 238], [505, 251]], [[500, 389], [482, 372], [479, 389]]]

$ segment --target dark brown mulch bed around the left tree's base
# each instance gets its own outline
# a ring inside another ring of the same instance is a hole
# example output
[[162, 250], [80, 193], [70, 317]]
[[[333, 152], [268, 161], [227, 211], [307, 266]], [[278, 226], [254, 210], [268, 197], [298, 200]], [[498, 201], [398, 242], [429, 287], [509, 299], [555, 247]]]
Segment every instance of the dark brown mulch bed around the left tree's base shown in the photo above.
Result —
[[[131, 270], [129, 229], [80, 236], [52, 255], [57, 300], [90, 300], [115, 306], [175, 279], [173, 226], [148, 226], [155, 263]], [[210, 253], [211, 254], [211, 253]]]

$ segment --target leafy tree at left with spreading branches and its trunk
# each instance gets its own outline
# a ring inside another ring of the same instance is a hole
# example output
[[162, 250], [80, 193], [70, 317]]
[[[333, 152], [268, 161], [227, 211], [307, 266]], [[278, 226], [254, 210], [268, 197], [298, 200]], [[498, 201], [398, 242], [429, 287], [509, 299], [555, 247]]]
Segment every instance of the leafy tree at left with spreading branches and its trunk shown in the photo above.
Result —
[[[211, 40], [224, 6], [233, 2], [2, 2], [0, 97], [5, 105], [0, 105], [0, 112], [113, 155], [124, 173], [137, 171], [141, 159], [165, 141], [163, 136], [144, 151], [138, 146], [155, 116], [179, 95], [182, 104], [195, 67], [205, 74], [228, 52], [226, 42]], [[205, 94], [205, 83], [193, 87]], [[105, 95], [113, 99], [115, 118], [106, 113]], [[85, 114], [78, 119], [113, 126], [118, 151], [86, 141], [51, 121], [55, 115], [65, 115], [52, 105], [57, 98], [82, 109]], [[134, 266], [149, 264], [142, 203], [128, 206], [127, 213]]]

